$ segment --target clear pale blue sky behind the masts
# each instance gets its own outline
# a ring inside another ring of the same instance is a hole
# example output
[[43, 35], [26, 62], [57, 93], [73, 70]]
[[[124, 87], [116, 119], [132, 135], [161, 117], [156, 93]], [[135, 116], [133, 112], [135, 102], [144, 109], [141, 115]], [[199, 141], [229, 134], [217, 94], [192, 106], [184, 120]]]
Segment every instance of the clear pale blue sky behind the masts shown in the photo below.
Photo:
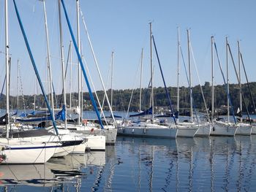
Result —
[[[25, 43], [18, 26], [14, 5], [9, 1], [10, 54], [12, 57], [11, 94], [17, 94], [17, 60], [20, 60], [23, 92], [34, 94], [35, 75], [26, 51]], [[75, 0], [65, 1], [69, 19], [76, 34]], [[27, 33], [32, 53], [40, 75], [46, 82], [46, 41], [43, 9], [41, 1], [17, 1], [20, 17]], [[153, 34], [157, 43], [159, 58], [164, 70], [167, 86], [176, 86], [177, 71], [177, 27], [180, 27], [181, 47], [187, 62], [187, 29], [190, 29], [190, 40], [195, 56], [195, 63], [200, 81], [211, 81], [211, 36], [214, 35], [222, 66], [225, 68], [225, 37], [228, 37], [233, 56], [237, 63], [237, 41], [241, 40], [241, 52], [244, 57], [248, 77], [255, 81], [256, 62], [256, 1], [255, 0], [94, 0], [81, 1], [83, 15], [89, 29], [92, 45], [97, 56], [102, 78], [107, 82], [110, 70], [111, 52], [114, 51], [114, 89], [139, 87], [139, 64], [141, 49], [144, 49], [143, 87], [150, 78], [149, 65], [149, 25], [153, 23]], [[51, 62], [53, 65], [53, 83], [56, 92], [61, 91], [61, 67], [59, 60], [59, 21], [57, 0], [46, 0], [48, 13], [48, 30], [50, 35]], [[63, 9], [61, 10], [63, 11]], [[0, 0], [0, 51], [4, 52], [4, 0]], [[62, 12], [63, 15], [63, 12]], [[64, 16], [64, 15], [63, 15]], [[80, 20], [81, 21], [81, 20]], [[64, 33], [64, 59], [67, 61], [67, 50], [70, 41], [65, 18], [62, 19]], [[80, 22], [80, 34], [83, 44], [83, 55], [89, 65], [94, 85], [102, 90], [89, 50], [83, 23]], [[72, 48], [74, 50], [74, 48]], [[72, 61], [77, 62], [75, 52]], [[215, 58], [217, 61], [217, 59]], [[4, 80], [4, 54], [0, 53], [0, 85]], [[187, 62], [188, 63], [188, 62]], [[72, 91], [77, 89], [76, 67], [72, 67]], [[70, 70], [68, 70], [70, 71]], [[195, 65], [192, 62], [192, 84], [197, 85]], [[136, 75], [137, 74], [137, 75]], [[215, 83], [223, 84], [217, 62], [215, 62]], [[69, 72], [68, 72], [69, 78]], [[245, 82], [243, 75], [242, 82]], [[230, 83], [237, 83], [233, 66], [230, 63]], [[187, 86], [184, 67], [181, 64], [181, 85]], [[154, 54], [154, 86], [163, 86], [159, 73], [156, 55]], [[106, 85], [110, 88], [110, 83]], [[45, 89], [48, 90], [46, 83]], [[87, 91], [87, 88], [84, 88]], [[69, 81], [67, 81], [69, 92]]]

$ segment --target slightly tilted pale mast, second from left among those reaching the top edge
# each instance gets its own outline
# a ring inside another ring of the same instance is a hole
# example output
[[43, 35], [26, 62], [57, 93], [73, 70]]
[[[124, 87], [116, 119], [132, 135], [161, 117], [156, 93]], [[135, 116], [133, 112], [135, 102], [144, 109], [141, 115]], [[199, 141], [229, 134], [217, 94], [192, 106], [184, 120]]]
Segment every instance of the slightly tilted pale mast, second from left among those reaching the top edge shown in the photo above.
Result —
[[45, 15], [45, 36], [47, 42], [47, 61], [48, 61], [48, 70], [49, 70], [49, 80], [50, 80], [50, 104], [53, 109], [53, 118], [54, 116], [54, 102], [53, 102], [53, 78], [51, 72], [51, 64], [50, 64], [50, 45], [49, 45], [49, 36], [48, 36], [48, 22], [47, 22], [47, 15], [45, 9], [45, 0], [42, 0], [43, 8], [44, 8], [44, 15]]

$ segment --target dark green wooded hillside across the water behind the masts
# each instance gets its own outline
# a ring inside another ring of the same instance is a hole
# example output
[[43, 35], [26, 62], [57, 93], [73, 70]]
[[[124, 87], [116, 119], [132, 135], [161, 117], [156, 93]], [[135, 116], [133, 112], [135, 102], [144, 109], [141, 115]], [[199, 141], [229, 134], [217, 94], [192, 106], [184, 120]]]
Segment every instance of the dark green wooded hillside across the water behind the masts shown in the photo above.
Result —
[[[256, 96], [256, 82], [250, 82], [249, 87], [252, 91], [252, 97], [255, 100]], [[211, 83], [205, 82], [205, 84], [202, 86], [203, 94], [206, 99], [206, 106], [209, 108], [211, 107]], [[173, 104], [174, 110], [176, 110], [177, 105], [177, 88], [176, 87], [168, 87], [167, 91], [170, 95], [170, 99]], [[230, 84], [230, 99], [232, 101], [233, 107], [236, 110], [239, 107], [239, 92], [240, 89], [238, 88], [238, 84]], [[248, 107], [248, 110], [250, 113], [254, 113], [255, 109], [253, 106], [252, 99], [250, 99], [250, 93], [249, 88], [247, 84], [242, 84], [242, 92], [244, 93], [244, 99], [246, 106]], [[108, 98], [110, 99], [110, 90], [107, 91]], [[150, 101], [151, 101], [151, 88], [143, 88], [141, 90], [141, 110], [146, 110], [148, 107], [150, 107]], [[69, 97], [72, 97], [71, 99], [71, 106], [76, 107], [78, 105], [78, 93], [67, 93], [67, 107], [70, 107], [70, 99]], [[97, 91], [97, 96], [99, 97], [99, 101], [102, 102], [102, 100], [105, 98], [104, 91]], [[132, 95], [132, 99], [131, 99]], [[94, 93], [94, 98], [95, 93]], [[200, 90], [200, 85], [196, 85], [192, 88], [192, 98], [194, 102], [194, 107], [198, 111], [206, 111], [205, 105], [203, 103], [203, 96]], [[181, 86], [179, 88], [179, 106], [180, 109], [189, 109], [190, 103], [189, 100], [189, 88]], [[55, 104], [56, 108], [61, 107], [63, 101], [61, 95], [55, 96]], [[125, 89], [125, 90], [113, 90], [113, 110], [116, 111], [127, 111], [129, 106], [129, 111], [138, 111], [139, 108], [139, 102], [140, 101], [140, 88], [137, 88], [132, 91], [132, 89]], [[129, 104], [130, 103], [130, 104]], [[216, 108], [223, 107], [227, 105], [227, 94], [226, 94], [226, 85], [216, 85], [214, 86], [214, 106]], [[4, 94], [1, 95], [0, 99], [0, 107], [1, 109], [5, 109], [6, 107], [6, 97]], [[157, 109], [169, 109], [169, 102], [167, 100], [167, 96], [165, 93], [165, 88], [159, 87], [154, 88], [154, 106], [157, 107]], [[15, 110], [18, 108], [18, 110], [33, 110], [34, 107], [36, 109], [42, 107], [46, 107], [44, 97], [41, 95], [37, 96], [10, 96], [10, 109]], [[91, 100], [89, 97], [89, 93], [85, 92], [83, 93], [83, 110], [92, 110], [93, 107], [91, 106]], [[109, 110], [107, 100], [104, 101], [104, 110]], [[243, 106], [243, 112], [245, 112], [245, 106]]]

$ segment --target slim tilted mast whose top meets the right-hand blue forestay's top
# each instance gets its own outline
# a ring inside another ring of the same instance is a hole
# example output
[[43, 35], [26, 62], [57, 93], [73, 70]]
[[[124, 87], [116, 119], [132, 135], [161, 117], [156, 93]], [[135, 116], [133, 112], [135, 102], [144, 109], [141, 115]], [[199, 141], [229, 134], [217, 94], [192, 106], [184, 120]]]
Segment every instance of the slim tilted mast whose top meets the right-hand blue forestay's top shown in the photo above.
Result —
[[[66, 86], [65, 86], [65, 70], [64, 70], [64, 46], [63, 46], [63, 38], [62, 38], [62, 26], [61, 26], [61, 0], [58, 1], [59, 5], [59, 42], [61, 44], [61, 79], [63, 86], [63, 99], [64, 99], [64, 111], [65, 115], [67, 115], [67, 104], [66, 104]], [[67, 128], [67, 118], [64, 120], [64, 127]]]

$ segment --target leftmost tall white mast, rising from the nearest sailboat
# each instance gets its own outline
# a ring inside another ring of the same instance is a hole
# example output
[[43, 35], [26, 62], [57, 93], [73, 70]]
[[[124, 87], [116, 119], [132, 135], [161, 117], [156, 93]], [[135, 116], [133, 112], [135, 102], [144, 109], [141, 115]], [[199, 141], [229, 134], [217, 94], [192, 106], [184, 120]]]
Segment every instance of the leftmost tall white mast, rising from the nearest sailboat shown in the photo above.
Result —
[[6, 105], [7, 105], [7, 138], [9, 138], [9, 36], [8, 36], [8, 0], [5, 0], [5, 67], [6, 67]]

